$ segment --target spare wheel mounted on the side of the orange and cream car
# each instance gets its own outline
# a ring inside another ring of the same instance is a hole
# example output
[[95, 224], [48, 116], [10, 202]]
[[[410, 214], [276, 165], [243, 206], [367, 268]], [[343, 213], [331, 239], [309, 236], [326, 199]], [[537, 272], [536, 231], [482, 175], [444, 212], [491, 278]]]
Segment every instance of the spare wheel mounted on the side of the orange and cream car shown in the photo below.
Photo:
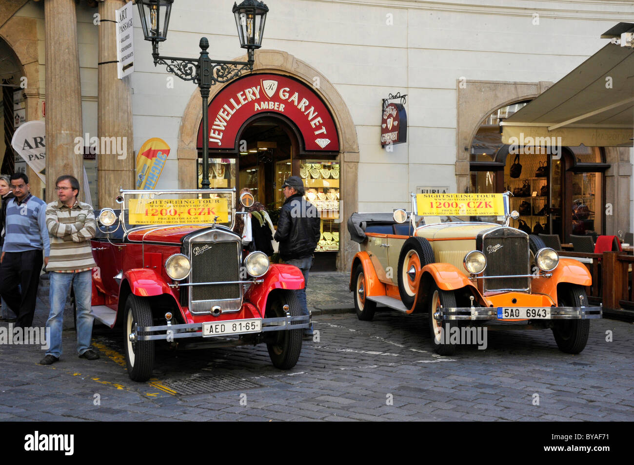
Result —
[[[416, 300], [418, 290], [413, 284], [419, 279], [420, 270], [434, 261], [434, 249], [427, 239], [413, 236], [403, 244], [398, 258], [398, 291], [401, 301], [408, 309], [411, 309]], [[413, 279], [407, 274], [412, 265], [416, 268]]]

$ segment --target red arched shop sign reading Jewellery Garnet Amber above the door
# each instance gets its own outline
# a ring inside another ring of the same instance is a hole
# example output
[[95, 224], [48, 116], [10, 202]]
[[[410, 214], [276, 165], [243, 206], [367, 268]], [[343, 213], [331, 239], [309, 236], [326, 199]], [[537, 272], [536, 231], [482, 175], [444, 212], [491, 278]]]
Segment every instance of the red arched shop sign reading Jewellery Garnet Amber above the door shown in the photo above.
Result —
[[238, 131], [259, 113], [279, 113], [291, 120], [306, 151], [339, 151], [337, 127], [321, 98], [309, 86], [276, 74], [248, 75], [218, 92], [209, 103], [209, 148], [237, 150]]

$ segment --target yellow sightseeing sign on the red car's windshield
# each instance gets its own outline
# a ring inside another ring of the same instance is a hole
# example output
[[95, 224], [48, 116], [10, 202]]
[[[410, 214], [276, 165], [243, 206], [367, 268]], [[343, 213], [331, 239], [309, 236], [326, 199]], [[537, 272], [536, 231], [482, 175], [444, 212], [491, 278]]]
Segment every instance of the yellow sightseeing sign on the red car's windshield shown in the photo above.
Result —
[[200, 224], [229, 222], [226, 198], [130, 199], [130, 224]]

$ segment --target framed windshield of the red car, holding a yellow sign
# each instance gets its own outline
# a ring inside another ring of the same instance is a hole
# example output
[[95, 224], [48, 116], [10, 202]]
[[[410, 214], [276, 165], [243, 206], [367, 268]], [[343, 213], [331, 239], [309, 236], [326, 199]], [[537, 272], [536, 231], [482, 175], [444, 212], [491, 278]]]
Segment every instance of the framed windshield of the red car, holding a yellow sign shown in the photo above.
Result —
[[124, 229], [137, 226], [222, 224], [233, 226], [234, 189], [122, 191]]

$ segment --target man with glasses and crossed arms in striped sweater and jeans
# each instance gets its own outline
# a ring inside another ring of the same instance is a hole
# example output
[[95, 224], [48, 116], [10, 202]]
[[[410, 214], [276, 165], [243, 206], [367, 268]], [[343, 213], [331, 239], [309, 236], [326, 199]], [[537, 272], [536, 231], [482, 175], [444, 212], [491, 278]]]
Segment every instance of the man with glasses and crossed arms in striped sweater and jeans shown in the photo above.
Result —
[[93, 207], [77, 200], [79, 181], [74, 176], [58, 177], [55, 186], [58, 201], [46, 207], [46, 226], [51, 235], [51, 259], [46, 267], [51, 280], [51, 312], [46, 327], [51, 328], [51, 341], [40, 361], [43, 365], [55, 363], [61, 357], [64, 307], [71, 286], [77, 306], [77, 354], [88, 360], [99, 358], [91, 347], [92, 274], [96, 264], [90, 239], [97, 230]]

